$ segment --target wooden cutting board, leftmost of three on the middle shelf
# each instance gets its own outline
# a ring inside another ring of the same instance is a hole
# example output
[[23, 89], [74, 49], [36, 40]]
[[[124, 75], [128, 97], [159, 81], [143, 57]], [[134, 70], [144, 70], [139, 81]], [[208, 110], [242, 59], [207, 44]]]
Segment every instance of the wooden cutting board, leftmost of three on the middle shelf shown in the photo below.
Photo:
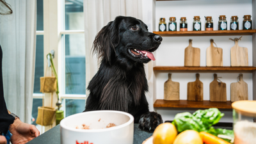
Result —
[[200, 49], [192, 47], [192, 40], [189, 40], [189, 45], [185, 49], [185, 66], [200, 66]]

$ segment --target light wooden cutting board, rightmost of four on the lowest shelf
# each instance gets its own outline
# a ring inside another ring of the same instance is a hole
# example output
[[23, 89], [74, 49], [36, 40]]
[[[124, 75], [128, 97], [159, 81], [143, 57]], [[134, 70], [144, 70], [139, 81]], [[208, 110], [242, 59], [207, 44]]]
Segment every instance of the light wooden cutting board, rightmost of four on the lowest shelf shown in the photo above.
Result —
[[[239, 81], [238, 81], [239, 79]], [[239, 74], [237, 83], [231, 83], [230, 95], [231, 101], [248, 100], [248, 84], [243, 80], [243, 74]]]

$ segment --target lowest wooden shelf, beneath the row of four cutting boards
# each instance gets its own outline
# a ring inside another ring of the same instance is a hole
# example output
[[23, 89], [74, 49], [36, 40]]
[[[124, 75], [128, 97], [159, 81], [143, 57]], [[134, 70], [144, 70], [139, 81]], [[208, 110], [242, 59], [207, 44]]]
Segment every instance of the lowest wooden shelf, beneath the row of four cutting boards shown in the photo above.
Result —
[[157, 99], [154, 103], [154, 108], [218, 108], [218, 109], [232, 109], [232, 102], [210, 102], [204, 100], [200, 102], [188, 100], [161, 100]]

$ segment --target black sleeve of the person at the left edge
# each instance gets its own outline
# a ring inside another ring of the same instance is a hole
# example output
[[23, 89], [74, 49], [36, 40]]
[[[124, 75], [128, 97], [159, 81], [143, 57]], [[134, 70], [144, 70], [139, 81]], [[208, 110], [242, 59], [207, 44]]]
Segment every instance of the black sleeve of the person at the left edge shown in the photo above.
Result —
[[13, 123], [14, 118], [9, 115], [4, 101], [2, 60], [3, 52], [0, 45], [0, 132], [6, 132], [10, 124]]

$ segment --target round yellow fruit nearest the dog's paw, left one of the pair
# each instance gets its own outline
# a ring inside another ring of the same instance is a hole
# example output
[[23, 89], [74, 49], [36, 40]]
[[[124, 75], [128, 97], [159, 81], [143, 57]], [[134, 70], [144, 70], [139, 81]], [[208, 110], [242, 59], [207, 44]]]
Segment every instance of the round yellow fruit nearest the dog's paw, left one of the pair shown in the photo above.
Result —
[[160, 124], [153, 133], [154, 144], [172, 144], [178, 132], [176, 127], [169, 122]]

